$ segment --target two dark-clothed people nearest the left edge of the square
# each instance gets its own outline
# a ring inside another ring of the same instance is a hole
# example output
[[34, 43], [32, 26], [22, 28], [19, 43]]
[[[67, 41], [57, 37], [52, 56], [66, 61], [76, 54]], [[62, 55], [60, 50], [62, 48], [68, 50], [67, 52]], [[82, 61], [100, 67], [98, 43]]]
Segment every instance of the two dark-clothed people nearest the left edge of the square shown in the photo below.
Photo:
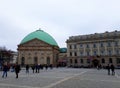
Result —
[[[7, 77], [7, 72], [9, 71], [9, 67], [8, 67], [7, 63], [5, 63], [3, 65], [2, 69], [3, 69], [2, 78]], [[16, 63], [14, 66], [12, 66], [12, 69], [15, 70], [16, 78], [18, 78], [18, 74], [20, 72], [20, 65], [18, 65], [18, 63]]]

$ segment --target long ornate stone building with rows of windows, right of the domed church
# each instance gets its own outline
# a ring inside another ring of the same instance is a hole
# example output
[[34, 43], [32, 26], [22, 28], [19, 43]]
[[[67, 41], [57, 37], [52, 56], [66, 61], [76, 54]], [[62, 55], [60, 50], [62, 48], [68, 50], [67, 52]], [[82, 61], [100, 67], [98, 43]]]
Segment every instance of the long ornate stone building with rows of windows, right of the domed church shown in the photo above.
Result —
[[120, 31], [71, 36], [66, 43], [68, 66], [120, 67]]

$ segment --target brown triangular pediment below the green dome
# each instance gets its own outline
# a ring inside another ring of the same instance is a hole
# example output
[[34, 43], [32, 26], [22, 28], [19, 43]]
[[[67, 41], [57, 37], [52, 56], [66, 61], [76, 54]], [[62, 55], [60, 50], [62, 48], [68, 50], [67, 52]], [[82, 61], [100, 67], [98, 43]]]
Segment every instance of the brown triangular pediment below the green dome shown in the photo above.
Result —
[[51, 46], [51, 45], [36, 38], [36, 39], [30, 40], [24, 44], [21, 44], [21, 46], [27, 46], [27, 47], [29, 47], [29, 46], [44, 46], [45, 47], [45, 46]]

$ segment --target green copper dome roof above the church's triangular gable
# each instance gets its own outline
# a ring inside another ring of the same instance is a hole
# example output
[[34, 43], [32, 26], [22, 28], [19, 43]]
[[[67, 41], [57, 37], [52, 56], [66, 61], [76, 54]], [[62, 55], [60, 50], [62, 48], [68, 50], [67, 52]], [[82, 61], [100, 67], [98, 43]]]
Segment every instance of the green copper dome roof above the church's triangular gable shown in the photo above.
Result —
[[48, 33], [44, 32], [43, 30], [36, 30], [30, 34], [28, 34], [22, 41], [20, 44], [26, 43], [30, 40], [33, 39], [39, 39], [42, 40], [50, 45], [54, 45], [54, 46], [58, 46], [57, 42], [54, 40], [54, 38], [52, 36], [50, 36]]

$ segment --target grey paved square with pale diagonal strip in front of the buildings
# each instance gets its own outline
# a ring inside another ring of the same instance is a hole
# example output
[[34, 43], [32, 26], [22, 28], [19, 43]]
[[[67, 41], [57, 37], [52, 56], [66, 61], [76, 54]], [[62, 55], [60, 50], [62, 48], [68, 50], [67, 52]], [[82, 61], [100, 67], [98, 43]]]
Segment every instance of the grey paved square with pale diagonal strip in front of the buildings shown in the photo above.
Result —
[[[2, 72], [0, 72], [2, 76]], [[107, 75], [107, 70], [82, 68], [53, 68], [40, 73], [25, 73], [19, 78], [8, 72], [7, 78], [0, 78], [0, 88], [120, 88], [120, 70], [116, 75]]]

